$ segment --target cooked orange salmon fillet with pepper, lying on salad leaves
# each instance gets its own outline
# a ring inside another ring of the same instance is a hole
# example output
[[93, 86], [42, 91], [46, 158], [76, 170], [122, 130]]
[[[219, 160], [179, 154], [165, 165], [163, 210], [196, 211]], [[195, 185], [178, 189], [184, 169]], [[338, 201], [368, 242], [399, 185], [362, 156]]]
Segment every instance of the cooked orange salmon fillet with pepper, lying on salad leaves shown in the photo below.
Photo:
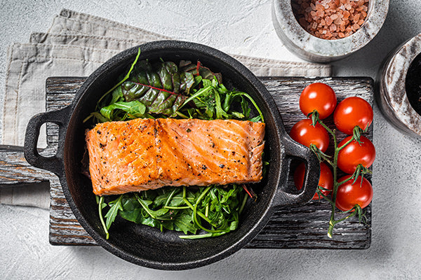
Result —
[[241, 120], [135, 119], [86, 132], [95, 195], [163, 186], [262, 179], [265, 124]]

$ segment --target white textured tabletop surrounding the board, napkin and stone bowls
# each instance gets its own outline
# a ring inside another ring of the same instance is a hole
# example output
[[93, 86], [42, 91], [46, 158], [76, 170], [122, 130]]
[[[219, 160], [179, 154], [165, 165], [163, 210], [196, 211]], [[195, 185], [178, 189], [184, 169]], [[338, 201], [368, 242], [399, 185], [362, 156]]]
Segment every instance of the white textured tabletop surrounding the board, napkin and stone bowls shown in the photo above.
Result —
[[[0, 90], [6, 48], [46, 31], [62, 8], [92, 13], [222, 51], [279, 58], [270, 0], [0, 1]], [[421, 2], [392, 0], [377, 37], [335, 62], [338, 76], [375, 78], [396, 45], [421, 32]], [[244, 249], [207, 267], [161, 272], [102, 248], [48, 244], [48, 211], [0, 205], [0, 279], [421, 279], [421, 140], [395, 130], [375, 108], [373, 238], [364, 251]]]

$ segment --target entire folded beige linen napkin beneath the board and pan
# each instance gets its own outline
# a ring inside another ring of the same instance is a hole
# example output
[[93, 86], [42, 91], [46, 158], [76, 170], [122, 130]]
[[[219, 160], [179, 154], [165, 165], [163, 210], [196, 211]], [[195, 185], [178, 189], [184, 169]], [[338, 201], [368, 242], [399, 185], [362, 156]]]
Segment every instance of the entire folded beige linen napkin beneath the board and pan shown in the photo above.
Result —
[[[46, 111], [45, 81], [49, 76], [89, 76], [121, 50], [148, 41], [168, 39], [173, 38], [63, 9], [60, 15], [53, 18], [48, 31], [34, 32], [29, 43], [14, 43], [8, 48], [5, 90], [1, 92], [4, 94], [4, 103], [0, 104], [1, 144], [23, 146], [29, 118]], [[178, 39], [188, 41], [186, 38]], [[288, 53], [286, 49], [285, 52]], [[326, 64], [231, 55], [256, 76], [331, 74], [331, 67]], [[39, 146], [46, 146], [45, 130], [41, 131]], [[14, 188], [22, 189], [0, 191], [0, 203], [48, 207], [46, 201], [49, 195], [45, 186], [40, 188], [38, 193], [41, 193], [41, 197], [37, 198], [32, 196], [32, 191], [25, 191], [25, 187]]]

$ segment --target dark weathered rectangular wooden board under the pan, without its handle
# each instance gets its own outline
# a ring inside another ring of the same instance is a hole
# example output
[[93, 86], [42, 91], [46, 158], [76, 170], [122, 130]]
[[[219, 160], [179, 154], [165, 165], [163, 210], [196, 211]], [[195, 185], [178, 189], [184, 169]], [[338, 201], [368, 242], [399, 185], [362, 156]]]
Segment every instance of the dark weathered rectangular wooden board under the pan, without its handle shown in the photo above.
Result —
[[[371, 78], [260, 78], [274, 97], [283, 118], [286, 130], [305, 118], [302, 115], [298, 98], [302, 89], [309, 83], [328, 83], [338, 96], [338, 102], [345, 97], [359, 96], [373, 103], [373, 80]], [[85, 78], [53, 77], [46, 80], [46, 109], [57, 110], [72, 102], [74, 94]], [[331, 117], [326, 120], [332, 123]], [[48, 149], [54, 153], [58, 130], [55, 125], [47, 125]], [[373, 139], [373, 128], [366, 135]], [[339, 140], [345, 135], [339, 135]], [[332, 146], [332, 145], [330, 145]], [[329, 153], [329, 151], [328, 151]], [[62, 193], [58, 178], [44, 172], [44, 180], [51, 185], [50, 242], [54, 245], [95, 245], [95, 241], [76, 221]], [[292, 176], [290, 176], [292, 177]], [[370, 179], [370, 178], [368, 178]], [[41, 179], [41, 181], [43, 181]], [[293, 182], [289, 179], [290, 188]], [[374, 186], [375, 190], [375, 186]], [[368, 224], [359, 223], [357, 218], [338, 224], [333, 238], [327, 237], [330, 204], [326, 201], [309, 202], [304, 206], [286, 207], [277, 211], [260, 234], [246, 248], [335, 248], [363, 249], [370, 247], [371, 204], [366, 207]]]

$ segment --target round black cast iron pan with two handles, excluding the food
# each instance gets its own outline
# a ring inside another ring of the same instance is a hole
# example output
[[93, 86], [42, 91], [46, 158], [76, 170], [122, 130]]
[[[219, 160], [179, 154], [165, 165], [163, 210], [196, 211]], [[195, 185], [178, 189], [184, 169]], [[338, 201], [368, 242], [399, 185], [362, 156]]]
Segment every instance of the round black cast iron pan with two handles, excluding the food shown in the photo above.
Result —
[[[98, 99], [118, 80], [141, 50], [140, 59], [162, 58], [178, 62], [199, 60], [215, 72], [221, 72], [224, 84], [248, 92], [265, 116], [266, 149], [269, 160], [267, 177], [253, 186], [257, 202], [248, 204], [241, 224], [234, 232], [212, 239], [179, 239], [178, 232], [160, 232], [156, 228], [116, 219], [105, 239], [91, 181], [81, 174], [85, 151], [83, 119], [93, 112]], [[279, 92], [282, 94], [282, 92]], [[60, 127], [58, 152], [45, 158], [36, 151], [39, 128], [43, 123]], [[283, 128], [279, 111], [264, 85], [245, 66], [223, 52], [206, 45], [182, 41], [156, 41], [125, 50], [102, 64], [81, 86], [71, 105], [59, 111], [40, 113], [27, 126], [25, 158], [35, 167], [47, 169], [60, 177], [63, 192], [83, 228], [102, 247], [137, 265], [155, 269], [190, 269], [208, 265], [231, 255], [246, 245], [280, 207], [304, 204], [312, 199], [319, 181], [319, 161], [308, 148], [291, 140]], [[307, 174], [301, 193], [286, 192], [290, 160], [307, 162]]]

